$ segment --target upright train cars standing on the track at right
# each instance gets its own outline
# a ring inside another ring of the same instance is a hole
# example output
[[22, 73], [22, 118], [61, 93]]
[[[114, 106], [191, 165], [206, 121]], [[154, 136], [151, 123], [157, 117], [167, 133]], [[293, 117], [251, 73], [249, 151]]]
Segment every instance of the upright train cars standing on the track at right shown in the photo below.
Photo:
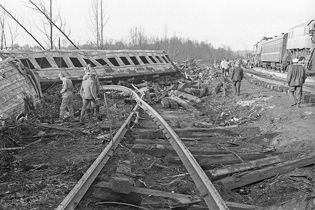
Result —
[[314, 42], [315, 20], [291, 27], [288, 33], [275, 37], [263, 37], [254, 45], [251, 64], [256, 67], [285, 71], [293, 58], [305, 58], [308, 72], [315, 73]]

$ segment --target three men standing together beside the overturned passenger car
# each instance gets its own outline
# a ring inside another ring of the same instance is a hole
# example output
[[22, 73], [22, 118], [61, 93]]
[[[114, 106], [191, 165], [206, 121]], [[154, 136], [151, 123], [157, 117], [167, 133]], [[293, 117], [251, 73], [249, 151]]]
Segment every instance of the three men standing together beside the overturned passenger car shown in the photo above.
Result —
[[[84, 115], [85, 112], [92, 113], [96, 115], [100, 112], [100, 100], [97, 95], [100, 93], [100, 82], [97, 78], [96, 74], [91, 72], [91, 67], [88, 65], [84, 67], [85, 75], [82, 78], [82, 84], [80, 89], [80, 95], [82, 97], [82, 109], [80, 115], [80, 123], [84, 123]], [[73, 84], [69, 78], [63, 73], [59, 73], [59, 78], [62, 81], [62, 89], [60, 94], [62, 94], [62, 101], [60, 105], [60, 113], [59, 118], [61, 120], [66, 120], [67, 117], [73, 119], [74, 112], [73, 112]], [[66, 108], [69, 110], [69, 116], [66, 116]]]

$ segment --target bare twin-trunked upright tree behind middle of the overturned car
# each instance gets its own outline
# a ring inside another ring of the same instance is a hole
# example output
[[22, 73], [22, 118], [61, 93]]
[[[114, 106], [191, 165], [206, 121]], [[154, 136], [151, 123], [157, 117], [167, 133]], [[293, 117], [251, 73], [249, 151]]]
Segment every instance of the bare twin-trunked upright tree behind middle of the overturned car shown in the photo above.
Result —
[[96, 47], [97, 50], [104, 50], [107, 47], [107, 40], [104, 38], [105, 25], [108, 23], [109, 15], [106, 14], [106, 1], [92, 0], [89, 10], [89, 20], [87, 25], [92, 32], [90, 39], [91, 47]]

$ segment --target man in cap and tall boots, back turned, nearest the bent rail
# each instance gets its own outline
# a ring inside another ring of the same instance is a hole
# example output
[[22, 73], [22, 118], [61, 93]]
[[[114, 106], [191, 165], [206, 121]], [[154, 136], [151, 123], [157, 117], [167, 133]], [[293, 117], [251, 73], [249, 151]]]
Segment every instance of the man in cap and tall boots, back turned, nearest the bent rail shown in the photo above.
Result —
[[89, 78], [81, 84], [80, 95], [82, 97], [82, 109], [80, 123], [83, 124], [84, 114], [89, 103], [95, 103], [98, 98], [96, 96], [95, 74], [89, 73]]

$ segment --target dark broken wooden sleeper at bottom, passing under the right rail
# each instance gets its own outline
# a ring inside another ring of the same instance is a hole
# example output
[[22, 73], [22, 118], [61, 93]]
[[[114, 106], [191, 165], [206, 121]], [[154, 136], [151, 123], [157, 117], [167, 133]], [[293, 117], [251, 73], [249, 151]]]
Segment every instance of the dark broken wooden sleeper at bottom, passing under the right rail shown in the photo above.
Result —
[[[171, 193], [166, 191], [158, 191], [152, 190], [148, 188], [140, 188], [140, 187], [132, 187], [132, 191], [129, 195], [116, 193], [112, 191], [112, 183], [109, 182], [100, 182], [99, 184], [94, 186], [93, 189], [94, 193], [93, 196], [104, 201], [113, 201], [113, 202], [126, 202], [135, 205], [150, 205], [150, 201], [156, 201], [158, 197], [167, 198], [164, 202], [164, 206], [168, 206], [170, 204], [174, 205], [174, 200], [177, 201], [175, 206], [172, 207], [179, 207], [183, 205], [189, 205], [193, 203], [200, 203], [199, 207], [203, 205], [199, 198], [195, 198], [189, 195], [179, 194], [179, 193]], [[169, 200], [173, 200], [172, 203]], [[161, 200], [157, 200], [160, 204], [162, 204]], [[245, 205], [240, 203], [234, 202], [225, 202], [226, 205], [231, 210], [260, 210], [261, 207]], [[206, 205], [204, 204], [204, 207]], [[196, 209], [196, 208], [195, 208]], [[200, 208], [198, 208], [200, 209]], [[209, 209], [208, 207], [205, 209]]]

